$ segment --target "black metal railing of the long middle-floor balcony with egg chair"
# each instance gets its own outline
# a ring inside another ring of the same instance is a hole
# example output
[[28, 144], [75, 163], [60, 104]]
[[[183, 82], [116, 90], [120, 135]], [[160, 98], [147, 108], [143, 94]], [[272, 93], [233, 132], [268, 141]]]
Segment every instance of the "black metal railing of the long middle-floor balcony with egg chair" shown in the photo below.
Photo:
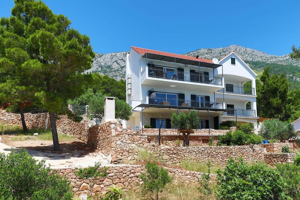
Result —
[[215, 108], [224, 109], [222, 102], [209, 102], [209, 101], [197, 101], [179, 98], [164, 98], [164, 97], [151, 97], [146, 96], [142, 99], [143, 104], [151, 105], [167, 105], [167, 106], [181, 106], [191, 108]]

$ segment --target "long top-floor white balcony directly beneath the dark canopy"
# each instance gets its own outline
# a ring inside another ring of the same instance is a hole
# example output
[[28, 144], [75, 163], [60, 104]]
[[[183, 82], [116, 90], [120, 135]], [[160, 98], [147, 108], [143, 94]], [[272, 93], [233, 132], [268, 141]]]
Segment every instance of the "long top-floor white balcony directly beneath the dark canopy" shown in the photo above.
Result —
[[209, 76], [203, 73], [187, 73], [177, 68], [144, 67], [141, 71], [141, 84], [158, 87], [176, 87], [217, 92], [224, 87], [223, 77]]

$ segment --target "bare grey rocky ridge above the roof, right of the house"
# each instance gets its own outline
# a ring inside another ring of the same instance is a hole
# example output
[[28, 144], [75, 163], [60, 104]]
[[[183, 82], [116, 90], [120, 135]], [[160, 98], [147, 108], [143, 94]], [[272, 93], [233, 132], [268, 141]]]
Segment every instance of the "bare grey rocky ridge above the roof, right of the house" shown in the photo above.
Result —
[[187, 56], [199, 56], [202, 58], [212, 59], [217, 58], [221, 59], [223, 56], [226, 56], [228, 53], [235, 51], [244, 61], [260, 61], [268, 63], [277, 63], [283, 65], [298, 65], [300, 66], [300, 61], [292, 60], [288, 54], [283, 56], [269, 55], [265, 52], [254, 50], [251, 48], [245, 48], [238, 45], [230, 45], [229, 47], [220, 47], [220, 48], [203, 48], [196, 51], [191, 51], [185, 53]]

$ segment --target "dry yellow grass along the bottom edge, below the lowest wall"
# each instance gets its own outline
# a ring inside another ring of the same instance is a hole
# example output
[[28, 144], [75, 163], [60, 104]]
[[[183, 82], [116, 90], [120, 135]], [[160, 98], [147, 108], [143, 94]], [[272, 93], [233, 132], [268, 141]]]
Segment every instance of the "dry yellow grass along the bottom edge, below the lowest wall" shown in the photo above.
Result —
[[[212, 195], [205, 195], [200, 192], [197, 188], [199, 187], [196, 183], [183, 183], [179, 181], [173, 181], [169, 183], [163, 192], [159, 193], [160, 200], [198, 200], [198, 199], [210, 199], [215, 200], [217, 198]], [[128, 190], [124, 193], [124, 196], [128, 200], [137, 200], [137, 199], [155, 199], [154, 194], [145, 194], [141, 189], [138, 190]]]

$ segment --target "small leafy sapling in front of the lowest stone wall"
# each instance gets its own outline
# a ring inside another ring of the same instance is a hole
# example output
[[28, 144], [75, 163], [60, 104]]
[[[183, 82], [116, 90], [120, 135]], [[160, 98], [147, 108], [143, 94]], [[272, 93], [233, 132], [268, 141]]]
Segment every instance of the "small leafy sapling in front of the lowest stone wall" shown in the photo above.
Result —
[[140, 179], [143, 180], [143, 189], [148, 192], [154, 192], [156, 194], [156, 200], [158, 200], [158, 193], [162, 192], [167, 183], [171, 183], [168, 171], [163, 167], [159, 167], [158, 164], [153, 161], [147, 160], [145, 165], [146, 173], [140, 175]]

